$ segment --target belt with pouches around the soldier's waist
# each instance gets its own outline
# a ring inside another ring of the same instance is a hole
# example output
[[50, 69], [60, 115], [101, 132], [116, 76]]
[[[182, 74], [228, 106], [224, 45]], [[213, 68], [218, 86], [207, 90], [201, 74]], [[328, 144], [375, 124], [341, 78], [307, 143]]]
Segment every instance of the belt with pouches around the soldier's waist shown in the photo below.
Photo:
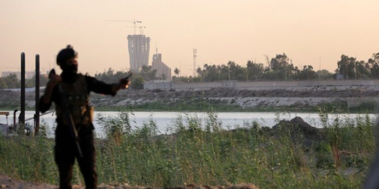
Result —
[[[86, 126], [93, 120], [93, 107], [89, 105], [69, 106], [69, 111], [72, 116], [76, 128], [81, 125]], [[69, 125], [70, 117], [66, 117], [61, 108], [57, 108], [58, 120], [61, 120], [65, 125]]]

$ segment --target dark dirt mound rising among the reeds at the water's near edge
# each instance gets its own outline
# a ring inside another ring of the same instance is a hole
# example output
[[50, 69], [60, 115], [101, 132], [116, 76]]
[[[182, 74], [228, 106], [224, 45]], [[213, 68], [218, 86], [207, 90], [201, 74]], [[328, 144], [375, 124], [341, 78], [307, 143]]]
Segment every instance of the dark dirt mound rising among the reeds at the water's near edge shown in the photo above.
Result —
[[272, 133], [274, 135], [282, 136], [283, 133], [287, 132], [290, 133], [294, 143], [303, 143], [305, 146], [310, 146], [322, 140], [321, 130], [312, 127], [301, 117], [294, 117], [291, 120], [280, 120], [272, 127]]

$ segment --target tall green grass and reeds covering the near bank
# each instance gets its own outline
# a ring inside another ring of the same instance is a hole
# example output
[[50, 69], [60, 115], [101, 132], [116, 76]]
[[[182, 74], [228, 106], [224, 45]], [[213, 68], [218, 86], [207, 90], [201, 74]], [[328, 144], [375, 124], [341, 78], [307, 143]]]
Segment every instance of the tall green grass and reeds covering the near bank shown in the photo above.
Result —
[[[367, 115], [353, 120], [338, 117], [329, 124], [327, 113], [320, 111], [324, 139], [305, 146], [295, 143], [286, 128], [279, 136], [272, 135], [256, 121], [226, 131], [212, 111], [204, 125], [194, 115], [178, 117], [167, 135], [158, 133], [152, 118], [135, 125], [131, 114], [97, 120], [106, 133], [105, 139], [96, 139], [100, 183], [167, 187], [250, 182], [261, 188], [357, 188], [376, 147], [374, 121]], [[57, 183], [54, 141], [45, 136], [0, 137], [1, 171], [24, 180]], [[74, 182], [80, 181], [75, 177]]]

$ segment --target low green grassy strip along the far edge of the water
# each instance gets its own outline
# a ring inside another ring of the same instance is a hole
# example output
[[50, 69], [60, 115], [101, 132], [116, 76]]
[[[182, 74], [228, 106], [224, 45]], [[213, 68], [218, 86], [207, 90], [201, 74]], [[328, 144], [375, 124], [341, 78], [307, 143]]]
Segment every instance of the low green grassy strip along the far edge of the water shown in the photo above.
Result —
[[[241, 107], [239, 105], [231, 104], [213, 104], [196, 102], [196, 104], [163, 104], [162, 102], [148, 102], [140, 105], [130, 106], [94, 106], [95, 111], [178, 111], [178, 112], [206, 112], [212, 110], [214, 112], [309, 112], [317, 113], [320, 108], [325, 109], [327, 112], [333, 112], [335, 109], [340, 109], [341, 113], [377, 113], [376, 102], [367, 101], [361, 102], [357, 106], [347, 107], [346, 101], [336, 101], [331, 103], [320, 103], [318, 105], [301, 105], [294, 104], [290, 106], [255, 106], [255, 107]], [[19, 106], [0, 106], [3, 111], [20, 110]], [[51, 108], [54, 109], [54, 106]], [[34, 111], [34, 107], [25, 107], [26, 111]]]

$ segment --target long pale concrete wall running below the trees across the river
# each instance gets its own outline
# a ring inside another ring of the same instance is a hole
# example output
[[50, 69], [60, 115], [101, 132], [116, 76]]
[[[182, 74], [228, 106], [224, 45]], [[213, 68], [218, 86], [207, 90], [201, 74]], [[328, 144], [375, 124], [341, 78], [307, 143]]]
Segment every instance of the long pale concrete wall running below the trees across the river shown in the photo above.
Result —
[[259, 81], [259, 82], [202, 82], [174, 83], [169, 81], [146, 82], [145, 89], [209, 89], [209, 88], [297, 88], [315, 86], [379, 86], [379, 80], [314, 80], [314, 81]]

